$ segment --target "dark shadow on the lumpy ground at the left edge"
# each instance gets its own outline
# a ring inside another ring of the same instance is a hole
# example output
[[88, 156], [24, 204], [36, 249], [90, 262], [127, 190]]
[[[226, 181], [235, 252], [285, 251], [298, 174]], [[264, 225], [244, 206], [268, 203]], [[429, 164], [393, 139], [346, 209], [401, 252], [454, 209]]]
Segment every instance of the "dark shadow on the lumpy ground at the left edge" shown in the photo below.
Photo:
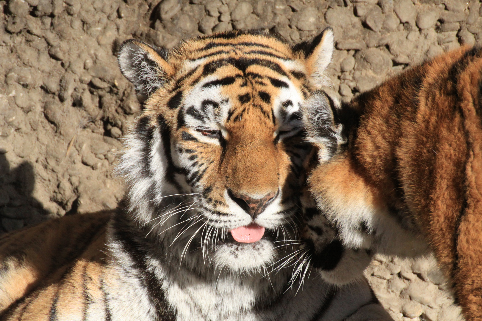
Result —
[[23, 162], [11, 168], [0, 149], [0, 233], [20, 229], [47, 219], [47, 211], [33, 195], [34, 167]]

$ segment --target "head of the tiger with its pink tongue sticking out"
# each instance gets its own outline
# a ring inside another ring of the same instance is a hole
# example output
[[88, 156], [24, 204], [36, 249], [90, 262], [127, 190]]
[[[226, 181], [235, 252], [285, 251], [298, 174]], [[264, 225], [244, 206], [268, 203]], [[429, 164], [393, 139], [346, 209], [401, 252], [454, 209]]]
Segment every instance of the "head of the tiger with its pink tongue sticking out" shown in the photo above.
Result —
[[331, 29], [294, 47], [240, 31], [174, 51], [124, 42], [120, 69], [144, 109], [118, 170], [135, 221], [173, 261], [239, 273], [295, 258], [311, 150], [300, 106], [333, 50]]

